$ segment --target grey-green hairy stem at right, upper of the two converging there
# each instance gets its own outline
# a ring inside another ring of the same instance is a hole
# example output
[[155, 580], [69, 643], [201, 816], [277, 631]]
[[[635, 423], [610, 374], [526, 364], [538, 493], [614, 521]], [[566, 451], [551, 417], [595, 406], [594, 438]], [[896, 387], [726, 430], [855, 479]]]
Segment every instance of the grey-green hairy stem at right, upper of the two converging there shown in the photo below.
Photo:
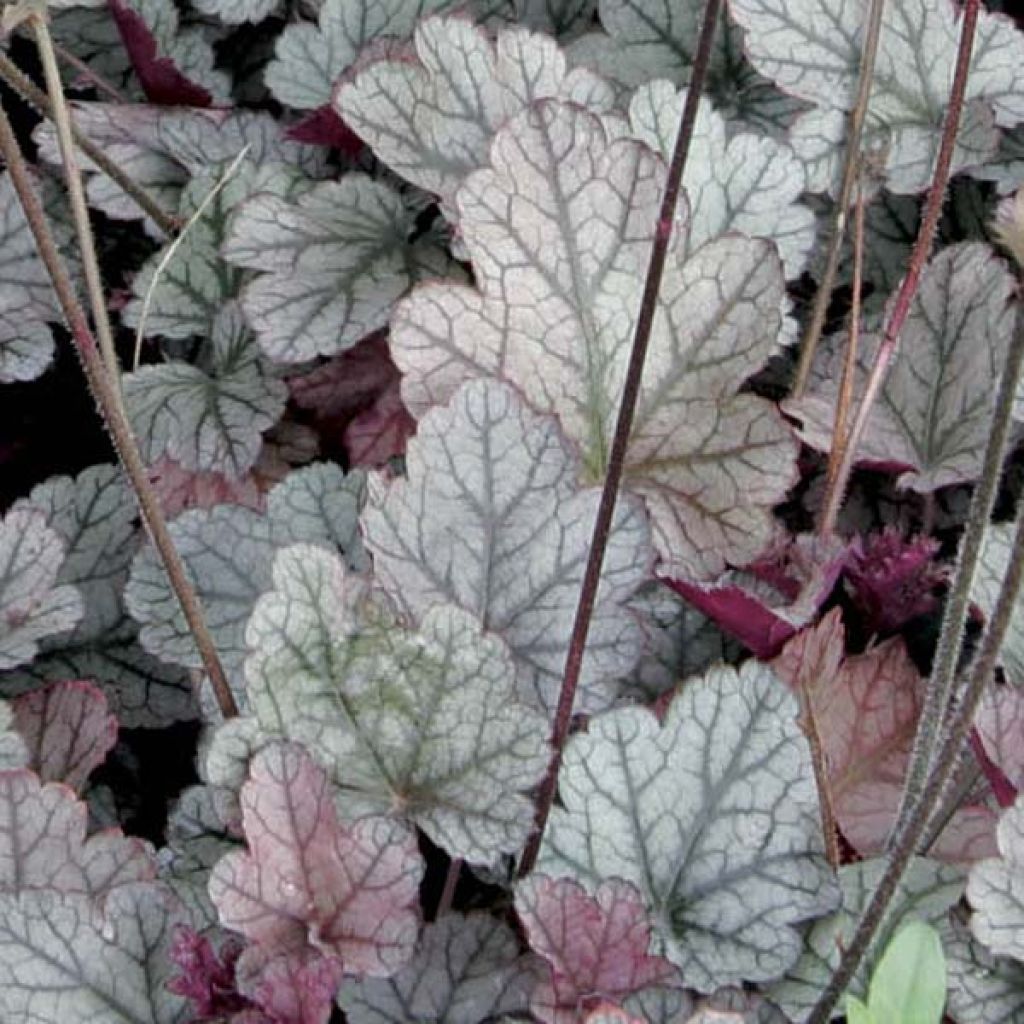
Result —
[[937, 736], [951, 705], [956, 682], [956, 666], [959, 664], [961, 650], [964, 646], [964, 629], [967, 626], [971, 603], [971, 588], [981, 556], [985, 527], [992, 517], [992, 508], [998, 496], [1002, 462], [1013, 427], [1014, 398], [1022, 365], [1024, 365], [1024, 310], [1018, 311], [1014, 335], [1007, 351], [1006, 369], [996, 392], [995, 411], [988, 432], [988, 441], [985, 444], [981, 478], [971, 499], [970, 515], [961, 539], [956, 571], [946, 597], [942, 628], [935, 649], [935, 659], [932, 663], [932, 675], [921, 709], [921, 720], [913, 739], [910, 763], [903, 783], [903, 796], [890, 845], [901, 840], [910, 811], [921, 796], [928, 772], [934, 765], [932, 755]]

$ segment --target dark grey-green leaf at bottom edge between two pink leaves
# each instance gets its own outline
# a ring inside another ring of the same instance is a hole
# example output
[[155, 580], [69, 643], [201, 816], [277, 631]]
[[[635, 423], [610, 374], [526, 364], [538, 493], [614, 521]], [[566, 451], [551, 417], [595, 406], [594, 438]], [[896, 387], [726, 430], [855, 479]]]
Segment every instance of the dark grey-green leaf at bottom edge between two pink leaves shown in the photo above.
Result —
[[508, 925], [447, 913], [423, 930], [397, 974], [346, 982], [338, 1005], [349, 1024], [479, 1024], [524, 1013], [539, 968]]

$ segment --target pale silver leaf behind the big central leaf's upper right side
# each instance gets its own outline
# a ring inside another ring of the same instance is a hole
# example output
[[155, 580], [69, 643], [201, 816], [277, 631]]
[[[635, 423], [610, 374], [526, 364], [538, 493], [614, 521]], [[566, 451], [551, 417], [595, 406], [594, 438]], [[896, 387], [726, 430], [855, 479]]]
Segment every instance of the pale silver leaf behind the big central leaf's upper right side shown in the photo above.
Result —
[[[641, 141], [672, 159], [686, 99], [665, 81], [637, 89], [630, 124]], [[690, 246], [726, 231], [770, 239], [778, 247], [785, 276], [799, 278], [814, 245], [814, 214], [799, 200], [804, 168], [784, 142], [751, 132], [727, 134], [725, 119], [701, 99], [691, 153], [683, 172], [690, 201]]]

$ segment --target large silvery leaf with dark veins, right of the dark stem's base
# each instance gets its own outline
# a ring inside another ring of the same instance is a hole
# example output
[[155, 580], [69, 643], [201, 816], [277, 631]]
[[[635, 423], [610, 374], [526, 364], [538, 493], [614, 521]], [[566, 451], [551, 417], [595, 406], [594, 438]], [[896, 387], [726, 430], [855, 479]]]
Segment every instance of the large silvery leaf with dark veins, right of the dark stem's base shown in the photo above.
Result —
[[796, 716], [748, 662], [690, 680], [664, 724], [641, 709], [592, 719], [566, 745], [538, 869], [591, 891], [632, 882], [687, 985], [779, 977], [796, 926], [836, 902]]

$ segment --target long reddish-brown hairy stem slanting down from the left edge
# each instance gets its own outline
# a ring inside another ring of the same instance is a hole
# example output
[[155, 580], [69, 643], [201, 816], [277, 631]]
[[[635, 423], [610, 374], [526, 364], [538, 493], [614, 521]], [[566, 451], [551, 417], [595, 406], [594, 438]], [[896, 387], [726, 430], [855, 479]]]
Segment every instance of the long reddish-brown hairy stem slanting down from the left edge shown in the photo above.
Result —
[[114, 447], [135, 493], [142, 521], [163, 560], [171, 587], [181, 604], [185, 622], [196, 640], [196, 646], [199, 648], [203, 665], [210, 677], [220, 710], [225, 718], [231, 718], [238, 714], [238, 708], [220, 658], [217, 656], [213, 638], [210, 636], [210, 631], [203, 617], [199, 599], [188, 582], [184, 563], [181, 561], [181, 556], [175, 549], [174, 542], [167, 529], [160, 501], [146, 476], [142, 458], [124, 413], [124, 407], [114, 389], [106, 367], [96, 346], [96, 340], [89, 330], [89, 322], [75, 295], [67, 267], [53, 242], [46, 214], [39, 202], [39, 197], [32, 187], [28, 166], [2, 104], [0, 104], [0, 156], [7, 164], [11, 184], [25, 211], [39, 256], [50, 275], [60, 309], [82, 359], [82, 368], [89, 390], [99, 408], [106, 429], [114, 441]]

